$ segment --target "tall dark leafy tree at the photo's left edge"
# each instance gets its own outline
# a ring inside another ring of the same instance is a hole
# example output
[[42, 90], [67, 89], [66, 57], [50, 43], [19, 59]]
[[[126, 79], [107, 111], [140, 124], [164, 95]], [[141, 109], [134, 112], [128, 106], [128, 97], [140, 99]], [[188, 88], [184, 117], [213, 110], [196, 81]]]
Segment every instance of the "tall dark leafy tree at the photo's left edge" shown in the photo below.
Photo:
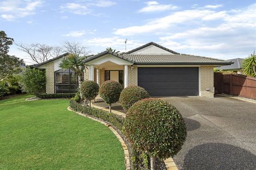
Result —
[[8, 55], [9, 48], [14, 40], [7, 37], [4, 31], [0, 31], [0, 80], [10, 75], [19, 73], [21, 65], [24, 64], [22, 59], [13, 55]]

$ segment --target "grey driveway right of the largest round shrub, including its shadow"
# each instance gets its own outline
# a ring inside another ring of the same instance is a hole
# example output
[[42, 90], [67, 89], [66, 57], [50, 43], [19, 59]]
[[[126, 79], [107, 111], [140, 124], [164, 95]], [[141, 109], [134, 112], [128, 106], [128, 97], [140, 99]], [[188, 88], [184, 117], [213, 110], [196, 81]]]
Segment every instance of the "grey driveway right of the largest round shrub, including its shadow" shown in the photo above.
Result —
[[256, 169], [256, 104], [228, 97], [166, 97], [184, 116], [179, 169]]

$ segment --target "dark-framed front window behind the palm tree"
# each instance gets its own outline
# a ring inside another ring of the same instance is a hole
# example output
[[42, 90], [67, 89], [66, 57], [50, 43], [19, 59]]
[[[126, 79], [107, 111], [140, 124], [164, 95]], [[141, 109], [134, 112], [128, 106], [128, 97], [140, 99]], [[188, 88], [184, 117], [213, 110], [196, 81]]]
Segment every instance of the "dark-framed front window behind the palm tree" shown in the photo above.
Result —
[[[78, 77], [76, 73], [70, 69], [58, 70], [54, 72], [55, 92], [56, 93], [75, 93], [78, 89]], [[84, 78], [82, 77], [82, 80]]]

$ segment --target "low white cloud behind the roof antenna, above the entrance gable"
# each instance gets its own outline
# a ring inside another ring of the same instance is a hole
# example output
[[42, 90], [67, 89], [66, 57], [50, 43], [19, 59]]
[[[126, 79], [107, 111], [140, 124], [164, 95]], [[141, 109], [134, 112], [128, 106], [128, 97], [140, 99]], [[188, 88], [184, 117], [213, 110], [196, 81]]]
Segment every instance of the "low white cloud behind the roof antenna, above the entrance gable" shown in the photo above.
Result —
[[[96, 37], [94, 39], [84, 40], [86, 45], [92, 47], [101, 47], [104, 51], [107, 47], [117, 49], [118, 51], [125, 52], [125, 39], [118, 36], [113, 37]], [[126, 43], [127, 51], [144, 45], [138, 40], [128, 40]]]

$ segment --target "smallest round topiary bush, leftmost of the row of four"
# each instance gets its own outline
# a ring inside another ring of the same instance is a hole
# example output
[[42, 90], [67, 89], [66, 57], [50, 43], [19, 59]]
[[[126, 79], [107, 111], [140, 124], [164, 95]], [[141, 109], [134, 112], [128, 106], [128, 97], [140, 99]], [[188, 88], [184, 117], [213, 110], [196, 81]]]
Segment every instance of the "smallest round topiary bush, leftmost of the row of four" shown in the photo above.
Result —
[[81, 95], [85, 99], [89, 100], [89, 105], [90, 101], [95, 99], [95, 97], [99, 93], [99, 85], [95, 83], [94, 81], [83, 81], [80, 87]]

